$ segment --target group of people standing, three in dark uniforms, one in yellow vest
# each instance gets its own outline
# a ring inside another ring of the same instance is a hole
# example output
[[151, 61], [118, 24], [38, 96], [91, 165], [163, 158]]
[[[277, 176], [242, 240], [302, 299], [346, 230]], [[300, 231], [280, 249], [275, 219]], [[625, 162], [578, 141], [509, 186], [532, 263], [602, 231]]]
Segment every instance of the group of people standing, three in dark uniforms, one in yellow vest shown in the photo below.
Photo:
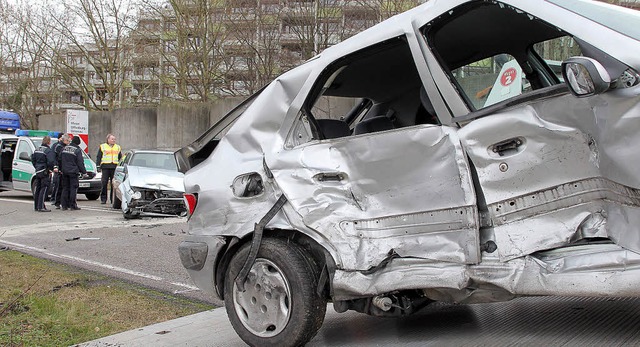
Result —
[[[115, 168], [122, 157], [122, 151], [116, 143], [116, 137], [107, 135], [107, 142], [100, 145], [96, 162], [98, 172], [102, 171], [102, 191], [100, 200], [107, 202], [107, 187], [113, 180]], [[50, 201], [56, 209], [80, 210], [76, 202], [80, 175], [86, 175], [84, 157], [80, 148], [80, 138], [70, 139], [67, 134], [60, 134], [58, 142], [51, 145], [51, 137], [45, 136], [31, 156], [31, 163], [35, 168], [34, 209], [38, 212], [51, 212], [45, 206], [49, 193]], [[52, 189], [49, 190], [50, 185]], [[113, 199], [113, 191], [111, 191]]]

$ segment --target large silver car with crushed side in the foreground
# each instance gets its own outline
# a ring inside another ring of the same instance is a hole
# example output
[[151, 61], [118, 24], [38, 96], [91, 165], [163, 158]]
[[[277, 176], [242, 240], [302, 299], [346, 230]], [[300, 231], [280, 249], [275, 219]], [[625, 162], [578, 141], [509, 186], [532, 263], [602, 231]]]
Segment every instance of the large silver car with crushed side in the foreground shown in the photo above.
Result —
[[176, 153], [199, 288], [252, 346], [338, 312], [640, 296], [640, 15], [429, 1]]

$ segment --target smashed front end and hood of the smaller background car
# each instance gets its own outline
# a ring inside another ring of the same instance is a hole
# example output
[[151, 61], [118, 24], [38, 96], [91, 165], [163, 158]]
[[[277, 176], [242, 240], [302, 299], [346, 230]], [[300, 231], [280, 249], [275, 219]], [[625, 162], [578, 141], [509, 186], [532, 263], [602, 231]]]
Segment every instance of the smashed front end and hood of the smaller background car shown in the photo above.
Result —
[[128, 179], [118, 187], [125, 216], [186, 214], [182, 173], [137, 166], [129, 166], [128, 171]]

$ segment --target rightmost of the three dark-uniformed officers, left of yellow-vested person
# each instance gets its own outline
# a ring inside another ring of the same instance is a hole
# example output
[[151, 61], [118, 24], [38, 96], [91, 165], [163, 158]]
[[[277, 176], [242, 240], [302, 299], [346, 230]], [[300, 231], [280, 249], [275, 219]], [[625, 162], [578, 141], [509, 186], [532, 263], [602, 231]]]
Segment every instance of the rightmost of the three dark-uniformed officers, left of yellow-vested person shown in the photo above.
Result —
[[82, 150], [78, 145], [80, 144], [80, 138], [74, 136], [71, 143], [62, 150], [62, 210], [79, 210], [76, 203], [76, 196], [78, 195], [78, 186], [80, 180], [78, 175], [87, 174], [87, 169], [84, 167], [84, 158], [82, 157]]

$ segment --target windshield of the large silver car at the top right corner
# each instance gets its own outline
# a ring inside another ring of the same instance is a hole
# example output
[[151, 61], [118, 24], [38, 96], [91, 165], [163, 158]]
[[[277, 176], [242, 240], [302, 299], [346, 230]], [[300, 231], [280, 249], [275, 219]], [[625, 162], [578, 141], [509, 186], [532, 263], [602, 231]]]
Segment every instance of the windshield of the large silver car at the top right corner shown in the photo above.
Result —
[[637, 11], [620, 11], [619, 7], [598, 1], [549, 0], [549, 2], [598, 22], [609, 29], [640, 40], [640, 16], [638, 13], [634, 13]]

